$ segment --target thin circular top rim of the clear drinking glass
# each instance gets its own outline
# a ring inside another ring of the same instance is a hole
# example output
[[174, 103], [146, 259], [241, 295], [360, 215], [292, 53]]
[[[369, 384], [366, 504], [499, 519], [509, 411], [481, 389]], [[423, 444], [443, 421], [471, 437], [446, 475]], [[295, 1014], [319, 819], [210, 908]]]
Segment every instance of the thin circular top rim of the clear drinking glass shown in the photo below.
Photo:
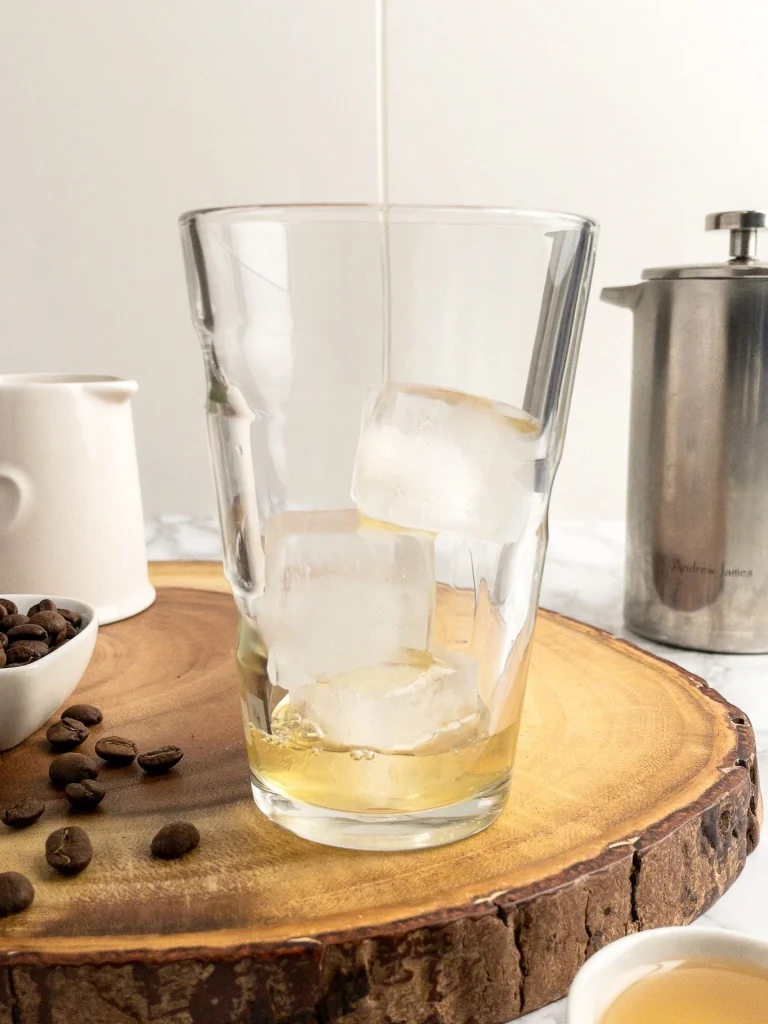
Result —
[[255, 220], [293, 223], [376, 223], [386, 210], [395, 223], [414, 224], [497, 224], [509, 226], [588, 228], [596, 231], [592, 217], [560, 210], [525, 209], [507, 206], [469, 206], [446, 204], [390, 203], [262, 203], [244, 206], [204, 207], [187, 210], [179, 217], [179, 226], [201, 221], [226, 223]]

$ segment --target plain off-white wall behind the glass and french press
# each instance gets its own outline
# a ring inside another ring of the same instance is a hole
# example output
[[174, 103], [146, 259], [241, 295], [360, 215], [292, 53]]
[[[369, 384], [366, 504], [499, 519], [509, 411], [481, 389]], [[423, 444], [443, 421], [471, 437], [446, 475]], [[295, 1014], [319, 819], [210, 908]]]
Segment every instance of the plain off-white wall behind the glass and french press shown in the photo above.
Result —
[[[621, 517], [631, 317], [597, 294], [768, 205], [768, 3], [390, 4], [391, 199], [601, 222], [553, 517]], [[374, 0], [2, 8], [3, 372], [135, 377], [146, 513], [210, 514], [176, 217], [375, 199]]]

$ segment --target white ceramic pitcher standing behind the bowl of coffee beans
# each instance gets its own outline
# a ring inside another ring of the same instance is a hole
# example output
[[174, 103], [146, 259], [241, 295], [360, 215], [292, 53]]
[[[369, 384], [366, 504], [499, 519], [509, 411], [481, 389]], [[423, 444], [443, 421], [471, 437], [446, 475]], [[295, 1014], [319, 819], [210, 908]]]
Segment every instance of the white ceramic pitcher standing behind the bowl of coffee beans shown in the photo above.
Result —
[[147, 607], [135, 381], [0, 376], [0, 596], [67, 594], [100, 623]]

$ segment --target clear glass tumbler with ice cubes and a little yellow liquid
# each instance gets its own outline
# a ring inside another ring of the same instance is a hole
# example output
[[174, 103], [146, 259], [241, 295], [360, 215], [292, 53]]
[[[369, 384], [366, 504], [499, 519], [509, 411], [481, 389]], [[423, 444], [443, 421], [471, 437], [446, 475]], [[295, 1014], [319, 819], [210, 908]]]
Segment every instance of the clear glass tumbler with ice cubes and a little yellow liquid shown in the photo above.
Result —
[[253, 794], [357, 849], [501, 813], [594, 259], [583, 217], [181, 218]]

